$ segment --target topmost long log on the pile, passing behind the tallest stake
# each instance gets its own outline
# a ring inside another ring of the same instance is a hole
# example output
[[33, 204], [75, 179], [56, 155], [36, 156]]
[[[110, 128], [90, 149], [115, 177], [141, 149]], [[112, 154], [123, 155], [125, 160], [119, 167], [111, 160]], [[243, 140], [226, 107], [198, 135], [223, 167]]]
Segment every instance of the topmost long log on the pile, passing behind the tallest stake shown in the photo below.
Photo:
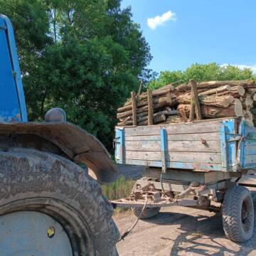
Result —
[[[223, 85], [230, 85], [230, 86], [243, 86], [243, 87], [252, 87], [255, 85], [253, 80], [230, 80], [230, 81], [208, 81], [208, 82], [198, 82], [197, 88], [205, 89], [220, 87]], [[178, 85], [176, 87], [178, 92], [188, 92], [190, 90], [189, 83], [184, 83], [182, 85]]]

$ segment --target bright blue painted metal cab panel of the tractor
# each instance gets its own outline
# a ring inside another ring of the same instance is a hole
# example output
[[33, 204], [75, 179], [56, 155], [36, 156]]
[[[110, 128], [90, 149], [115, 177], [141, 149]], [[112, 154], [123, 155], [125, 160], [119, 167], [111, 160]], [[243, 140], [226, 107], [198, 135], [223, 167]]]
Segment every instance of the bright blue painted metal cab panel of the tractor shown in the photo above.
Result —
[[11, 21], [0, 14], [0, 122], [27, 122], [21, 71]]

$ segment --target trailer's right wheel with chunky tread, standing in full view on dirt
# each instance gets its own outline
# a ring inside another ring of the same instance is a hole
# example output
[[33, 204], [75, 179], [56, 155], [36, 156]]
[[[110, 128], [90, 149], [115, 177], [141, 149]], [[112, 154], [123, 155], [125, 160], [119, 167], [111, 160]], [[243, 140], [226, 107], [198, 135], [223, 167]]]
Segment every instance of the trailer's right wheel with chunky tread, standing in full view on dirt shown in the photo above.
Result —
[[250, 191], [234, 186], [226, 191], [223, 201], [223, 229], [234, 242], [245, 242], [252, 237], [254, 208]]

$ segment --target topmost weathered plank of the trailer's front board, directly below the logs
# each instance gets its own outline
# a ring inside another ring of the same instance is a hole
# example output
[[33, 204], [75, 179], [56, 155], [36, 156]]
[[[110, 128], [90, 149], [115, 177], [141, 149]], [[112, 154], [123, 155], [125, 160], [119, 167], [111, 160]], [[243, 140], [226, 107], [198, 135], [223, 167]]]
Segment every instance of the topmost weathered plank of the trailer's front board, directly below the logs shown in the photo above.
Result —
[[125, 127], [128, 136], [159, 135], [162, 127], [166, 128], [167, 134], [195, 134], [205, 132], [218, 132], [221, 121], [193, 122], [180, 124], [160, 124], [142, 127]]

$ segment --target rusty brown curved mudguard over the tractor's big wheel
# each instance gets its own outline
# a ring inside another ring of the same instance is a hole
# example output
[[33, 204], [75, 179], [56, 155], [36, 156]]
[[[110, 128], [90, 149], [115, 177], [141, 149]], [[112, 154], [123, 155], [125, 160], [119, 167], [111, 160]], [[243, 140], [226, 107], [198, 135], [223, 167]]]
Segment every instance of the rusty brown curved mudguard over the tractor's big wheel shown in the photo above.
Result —
[[105, 146], [92, 134], [69, 122], [0, 123], [0, 137], [36, 135], [55, 144], [70, 159], [83, 163], [93, 171], [98, 181], [112, 182], [117, 169]]

